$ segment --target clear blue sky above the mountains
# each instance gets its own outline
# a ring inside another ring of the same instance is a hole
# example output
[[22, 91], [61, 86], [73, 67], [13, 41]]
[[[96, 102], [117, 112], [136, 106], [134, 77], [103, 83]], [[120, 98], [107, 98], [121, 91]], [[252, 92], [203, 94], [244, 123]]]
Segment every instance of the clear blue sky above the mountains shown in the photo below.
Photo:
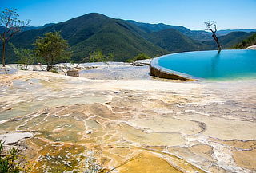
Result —
[[205, 29], [256, 29], [256, 0], [0, 0], [0, 10], [16, 8], [30, 26], [63, 22], [91, 12], [138, 22], [166, 23]]

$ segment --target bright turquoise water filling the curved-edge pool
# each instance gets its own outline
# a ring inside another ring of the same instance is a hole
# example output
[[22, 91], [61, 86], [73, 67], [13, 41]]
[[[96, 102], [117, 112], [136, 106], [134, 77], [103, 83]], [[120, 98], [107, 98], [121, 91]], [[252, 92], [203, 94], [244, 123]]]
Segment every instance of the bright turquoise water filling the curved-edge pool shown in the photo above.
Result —
[[151, 65], [170, 73], [210, 80], [256, 79], [256, 50], [217, 50], [174, 53]]

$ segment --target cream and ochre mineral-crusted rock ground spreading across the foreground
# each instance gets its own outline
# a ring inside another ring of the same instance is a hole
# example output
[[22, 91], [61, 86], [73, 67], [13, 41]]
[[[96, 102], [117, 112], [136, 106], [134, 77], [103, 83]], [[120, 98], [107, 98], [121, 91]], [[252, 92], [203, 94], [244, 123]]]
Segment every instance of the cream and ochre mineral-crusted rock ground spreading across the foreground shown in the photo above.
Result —
[[126, 64], [9, 70], [0, 139], [32, 172], [256, 171], [255, 80], [168, 81]]

